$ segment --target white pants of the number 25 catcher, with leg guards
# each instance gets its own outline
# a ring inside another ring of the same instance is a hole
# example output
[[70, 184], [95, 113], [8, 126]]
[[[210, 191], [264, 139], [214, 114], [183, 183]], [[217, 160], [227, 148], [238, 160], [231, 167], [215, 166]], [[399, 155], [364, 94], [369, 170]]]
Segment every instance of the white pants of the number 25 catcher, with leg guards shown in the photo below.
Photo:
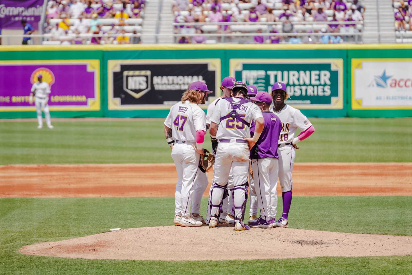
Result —
[[247, 182], [249, 169], [249, 148], [247, 143], [219, 143], [215, 159], [215, 173], [211, 190], [211, 216], [219, 213], [220, 203], [227, 188], [229, 173], [233, 173], [234, 214], [241, 220], [247, 199]]

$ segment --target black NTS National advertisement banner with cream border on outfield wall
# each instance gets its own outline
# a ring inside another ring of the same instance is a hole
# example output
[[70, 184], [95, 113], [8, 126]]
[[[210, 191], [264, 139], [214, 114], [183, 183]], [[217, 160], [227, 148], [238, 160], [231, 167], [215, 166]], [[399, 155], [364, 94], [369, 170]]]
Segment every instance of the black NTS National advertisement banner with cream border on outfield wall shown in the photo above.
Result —
[[219, 97], [220, 59], [108, 60], [108, 109], [169, 109], [194, 81]]

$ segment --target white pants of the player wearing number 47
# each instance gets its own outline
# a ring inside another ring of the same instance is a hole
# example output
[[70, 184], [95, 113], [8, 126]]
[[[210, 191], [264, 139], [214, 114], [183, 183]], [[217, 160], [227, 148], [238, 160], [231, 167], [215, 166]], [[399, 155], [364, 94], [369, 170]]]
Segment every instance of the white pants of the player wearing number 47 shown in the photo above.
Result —
[[175, 214], [190, 216], [192, 206], [192, 193], [195, 188], [195, 178], [199, 173], [199, 158], [193, 145], [194, 143], [178, 141], [172, 149], [172, 158], [178, 173], [178, 182], [175, 192]]

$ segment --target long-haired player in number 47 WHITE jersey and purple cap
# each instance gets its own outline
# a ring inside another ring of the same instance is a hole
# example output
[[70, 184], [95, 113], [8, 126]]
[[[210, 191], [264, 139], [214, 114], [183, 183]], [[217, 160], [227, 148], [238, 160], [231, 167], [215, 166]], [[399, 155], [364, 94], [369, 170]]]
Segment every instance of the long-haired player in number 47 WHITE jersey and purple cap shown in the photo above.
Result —
[[166, 141], [172, 148], [172, 158], [178, 173], [173, 221], [175, 225], [203, 225], [191, 217], [190, 206], [206, 134], [206, 116], [198, 104], [204, 104], [210, 92], [201, 81], [191, 83], [183, 93], [181, 102], [171, 107], [164, 121]]

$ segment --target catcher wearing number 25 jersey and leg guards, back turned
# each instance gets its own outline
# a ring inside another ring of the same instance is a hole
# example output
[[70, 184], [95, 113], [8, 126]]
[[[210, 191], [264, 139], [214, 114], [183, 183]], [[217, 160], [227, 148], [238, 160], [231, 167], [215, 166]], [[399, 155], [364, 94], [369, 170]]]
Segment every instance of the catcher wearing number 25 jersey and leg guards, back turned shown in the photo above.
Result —
[[[249, 149], [258, 141], [264, 120], [259, 107], [246, 99], [246, 84], [238, 81], [232, 87], [233, 97], [222, 98], [211, 117], [212, 150], [216, 152], [211, 190], [209, 227], [218, 226], [224, 197], [227, 195], [229, 173], [233, 174], [235, 230], [249, 230], [243, 224], [248, 199]], [[255, 121], [255, 134], [250, 139], [250, 123]], [[249, 138], [248, 140], [246, 140]], [[218, 144], [216, 144], [218, 141]]]

